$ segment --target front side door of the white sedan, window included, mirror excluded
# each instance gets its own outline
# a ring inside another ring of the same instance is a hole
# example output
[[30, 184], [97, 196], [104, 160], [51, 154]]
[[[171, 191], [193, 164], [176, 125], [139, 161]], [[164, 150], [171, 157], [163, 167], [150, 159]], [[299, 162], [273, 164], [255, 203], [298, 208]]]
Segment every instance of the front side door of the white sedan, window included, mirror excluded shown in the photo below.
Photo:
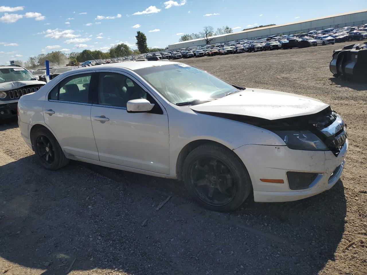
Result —
[[[128, 113], [128, 100], [155, 104], [147, 113]], [[169, 174], [166, 110], [138, 81], [119, 71], [100, 71], [91, 120], [100, 161]]]

